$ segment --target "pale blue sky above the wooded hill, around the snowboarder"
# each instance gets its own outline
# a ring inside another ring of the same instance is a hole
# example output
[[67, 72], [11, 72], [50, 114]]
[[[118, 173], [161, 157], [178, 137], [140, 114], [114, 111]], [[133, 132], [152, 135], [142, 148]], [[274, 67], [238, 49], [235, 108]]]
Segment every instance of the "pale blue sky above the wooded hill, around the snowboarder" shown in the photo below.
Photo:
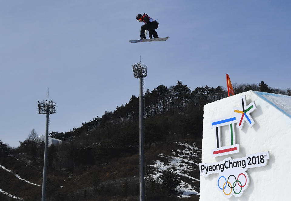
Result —
[[[0, 0], [0, 140], [12, 147], [45, 133], [37, 101], [57, 104], [50, 131], [66, 132], [145, 88], [266, 82], [291, 88], [290, 1]], [[139, 39], [147, 13], [166, 42]]]

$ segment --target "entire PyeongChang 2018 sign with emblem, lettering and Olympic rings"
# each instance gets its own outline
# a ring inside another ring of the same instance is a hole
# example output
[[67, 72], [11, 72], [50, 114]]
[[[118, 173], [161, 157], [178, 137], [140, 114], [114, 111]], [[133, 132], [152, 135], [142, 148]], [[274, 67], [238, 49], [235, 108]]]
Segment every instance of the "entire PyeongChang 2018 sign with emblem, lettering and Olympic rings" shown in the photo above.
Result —
[[[224, 156], [239, 152], [239, 144], [236, 144], [235, 124], [239, 130], [242, 129], [244, 122], [249, 127], [252, 127], [255, 123], [250, 115], [256, 109], [255, 102], [251, 102], [246, 105], [246, 96], [240, 97], [241, 107], [233, 108], [232, 116], [215, 119], [210, 123], [210, 127], [214, 128], [216, 136], [216, 148], [212, 149], [212, 157]], [[221, 146], [221, 127], [229, 127], [229, 146]], [[216, 186], [221, 193], [229, 198], [232, 195], [240, 197], [243, 191], [249, 185], [249, 176], [246, 171], [249, 168], [261, 167], [267, 164], [269, 159], [269, 152], [259, 152], [256, 154], [247, 155], [243, 158], [232, 159], [231, 157], [224, 159], [223, 161], [214, 163], [199, 163], [200, 176], [208, 176], [209, 174], [219, 173], [216, 179]]]

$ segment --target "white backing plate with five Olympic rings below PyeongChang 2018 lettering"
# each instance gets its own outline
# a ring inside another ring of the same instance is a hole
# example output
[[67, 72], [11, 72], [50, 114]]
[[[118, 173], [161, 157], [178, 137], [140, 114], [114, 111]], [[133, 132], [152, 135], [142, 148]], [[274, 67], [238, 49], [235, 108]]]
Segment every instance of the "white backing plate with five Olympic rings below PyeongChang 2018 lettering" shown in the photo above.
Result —
[[249, 176], [246, 172], [220, 174], [217, 177], [217, 188], [221, 193], [229, 198], [232, 195], [235, 197], [240, 197], [243, 191], [249, 185]]

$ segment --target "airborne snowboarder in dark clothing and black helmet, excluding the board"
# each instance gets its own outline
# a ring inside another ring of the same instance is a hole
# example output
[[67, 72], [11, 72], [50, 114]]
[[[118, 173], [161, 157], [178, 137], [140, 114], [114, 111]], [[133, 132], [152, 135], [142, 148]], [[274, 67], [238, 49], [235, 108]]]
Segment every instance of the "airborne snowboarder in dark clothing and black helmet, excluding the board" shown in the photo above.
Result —
[[152, 38], [152, 35], [154, 36], [154, 38], [159, 38], [157, 32], [155, 29], [158, 28], [159, 23], [154, 20], [153, 18], [149, 17], [149, 15], [147, 15], [146, 13], [142, 14], [138, 14], [136, 16], [136, 20], [139, 22], [144, 22], [145, 25], [142, 25], [140, 27], [140, 38], [141, 39], [146, 39], [146, 35], [145, 35], [145, 31], [148, 30], [149, 31], [149, 38]]

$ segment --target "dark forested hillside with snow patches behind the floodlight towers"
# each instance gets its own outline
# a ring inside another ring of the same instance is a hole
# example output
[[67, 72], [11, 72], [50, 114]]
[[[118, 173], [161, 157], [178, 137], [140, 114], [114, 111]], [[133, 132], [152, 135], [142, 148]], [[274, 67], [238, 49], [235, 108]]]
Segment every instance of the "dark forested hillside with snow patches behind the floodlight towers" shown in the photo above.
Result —
[[[291, 95], [291, 89], [269, 88], [263, 81], [259, 85], [234, 84], [233, 88], [236, 94], [256, 90]], [[152, 91], [146, 90], [144, 118], [146, 174], [149, 175], [147, 198], [199, 200], [197, 195], [181, 198], [181, 194], [185, 192], [178, 186], [179, 181], [181, 183], [182, 177], [189, 183], [190, 180], [195, 180], [191, 192], [199, 193], [197, 179], [200, 176], [195, 168], [201, 160], [199, 150], [203, 106], [226, 97], [227, 92], [221, 86], [213, 88], [206, 85], [191, 90], [180, 81], [171, 87], [159, 85]], [[9, 167], [14, 174], [21, 172], [19, 175], [41, 185], [44, 143], [37, 142], [35, 134], [32, 130], [17, 149], [9, 149], [0, 141], [0, 165], [6, 169]], [[62, 139], [63, 143], [61, 146], [52, 145], [48, 149], [48, 200], [138, 200], [139, 97], [132, 95], [128, 103], [118, 106], [115, 111], [105, 111], [102, 117], [97, 116], [68, 132], [50, 132], [50, 136]], [[9, 160], [9, 157], [13, 160]], [[173, 166], [173, 158], [179, 158], [179, 166]], [[21, 164], [32, 170], [30, 174], [35, 174], [28, 176], [22, 172], [19, 168]], [[167, 169], [153, 169], [159, 164]], [[186, 166], [187, 169], [182, 169]], [[17, 191], [15, 185], [19, 186], [21, 183], [17, 179], [15, 182], [9, 180], [15, 180], [15, 176], [7, 176], [11, 172], [4, 168], [0, 173], [4, 178], [1, 179], [0, 189], [19, 198], [25, 197], [25, 200], [39, 200], [41, 187], [34, 185], [30, 188], [26, 182], [26, 187]], [[155, 175], [158, 173], [157, 178]], [[167, 177], [169, 175], [172, 175], [170, 179]], [[168, 197], [169, 195], [172, 197]], [[7, 195], [1, 195], [0, 198], [15, 200]]]

